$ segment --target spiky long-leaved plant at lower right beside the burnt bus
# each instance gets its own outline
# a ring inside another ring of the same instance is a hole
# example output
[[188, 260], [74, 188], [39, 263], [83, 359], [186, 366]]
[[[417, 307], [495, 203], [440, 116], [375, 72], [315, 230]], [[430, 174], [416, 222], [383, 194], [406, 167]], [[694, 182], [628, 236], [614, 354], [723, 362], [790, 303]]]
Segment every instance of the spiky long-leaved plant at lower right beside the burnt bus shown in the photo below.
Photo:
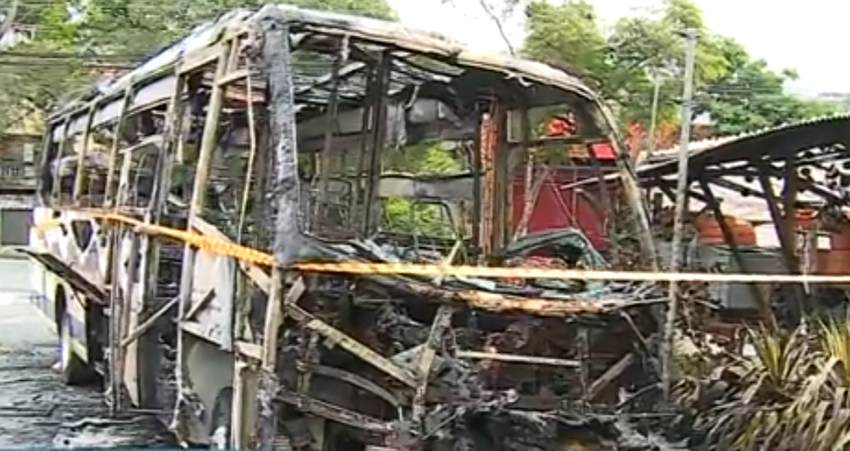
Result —
[[719, 367], [706, 385], [686, 381], [679, 402], [708, 450], [839, 450], [850, 444], [850, 320], [814, 337], [750, 331], [752, 358]]

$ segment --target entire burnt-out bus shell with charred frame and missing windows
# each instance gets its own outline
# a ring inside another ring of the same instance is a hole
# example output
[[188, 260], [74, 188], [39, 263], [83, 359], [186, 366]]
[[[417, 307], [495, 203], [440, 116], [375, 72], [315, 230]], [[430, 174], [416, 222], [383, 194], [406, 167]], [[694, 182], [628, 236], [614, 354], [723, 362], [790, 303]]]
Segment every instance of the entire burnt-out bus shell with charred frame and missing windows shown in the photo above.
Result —
[[[552, 115], [573, 131], [539, 137]], [[599, 143], [614, 149], [608, 166]], [[602, 99], [548, 66], [394, 23], [236, 11], [52, 115], [41, 194], [69, 227], [32, 254], [82, 300], [87, 363], [113, 405], [176, 404], [187, 443], [624, 449], [610, 420], [569, 412], [654, 382], [651, 285], [286, 269], [541, 256], [609, 267], [579, 229], [515, 233], [527, 220], [512, 193], [535, 192], [526, 167], [579, 160], [623, 176], [624, 194], [597, 193], [599, 208], [622, 212], [610, 233], [651, 262], [620, 149]], [[417, 169], [428, 152], [451, 173]], [[270, 250], [283, 269], [80, 207]]]

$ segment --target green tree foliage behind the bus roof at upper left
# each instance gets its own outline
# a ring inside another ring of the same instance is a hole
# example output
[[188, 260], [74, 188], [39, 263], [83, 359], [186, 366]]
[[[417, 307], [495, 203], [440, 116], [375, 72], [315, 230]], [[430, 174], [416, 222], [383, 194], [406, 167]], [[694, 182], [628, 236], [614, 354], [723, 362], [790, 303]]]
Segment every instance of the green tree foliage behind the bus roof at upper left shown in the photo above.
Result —
[[[0, 0], [0, 11], [12, 0]], [[19, 0], [15, 23], [32, 39], [15, 55], [0, 58], [0, 130], [21, 105], [44, 110], [60, 96], [85, 89], [100, 67], [126, 67], [185, 37], [196, 25], [235, 8], [258, 8], [262, 0]], [[302, 7], [385, 19], [395, 13], [385, 0], [292, 0]], [[0, 55], [2, 56], [2, 55]], [[92, 67], [96, 66], [96, 67]]]

